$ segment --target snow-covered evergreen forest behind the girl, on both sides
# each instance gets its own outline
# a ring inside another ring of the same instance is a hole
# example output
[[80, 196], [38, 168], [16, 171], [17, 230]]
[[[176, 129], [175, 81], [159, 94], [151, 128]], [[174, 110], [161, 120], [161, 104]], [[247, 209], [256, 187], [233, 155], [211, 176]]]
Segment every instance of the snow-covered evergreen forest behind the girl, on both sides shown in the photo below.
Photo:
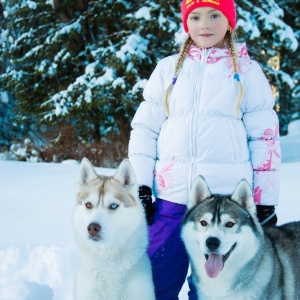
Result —
[[[115, 167], [158, 60], [185, 38], [176, 0], [0, 0], [0, 152]], [[237, 33], [276, 98], [280, 133], [300, 119], [300, 0], [236, 0]]]

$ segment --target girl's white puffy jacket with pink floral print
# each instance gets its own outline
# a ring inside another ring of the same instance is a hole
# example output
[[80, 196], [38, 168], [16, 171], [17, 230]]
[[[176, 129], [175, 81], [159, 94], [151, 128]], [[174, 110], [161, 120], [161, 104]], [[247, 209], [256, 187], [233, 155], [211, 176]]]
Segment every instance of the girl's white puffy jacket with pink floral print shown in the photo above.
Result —
[[278, 118], [270, 85], [245, 44], [236, 45], [244, 97], [236, 112], [238, 84], [227, 49], [189, 51], [169, 97], [178, 55], [162, 59], [132, 121], [129, 159], [139, 184], [155, 197], [187, 204], [202, 175], [211, 192], [231, 194], [246, 178], [257, 204], [277, 205], [280, 146]]

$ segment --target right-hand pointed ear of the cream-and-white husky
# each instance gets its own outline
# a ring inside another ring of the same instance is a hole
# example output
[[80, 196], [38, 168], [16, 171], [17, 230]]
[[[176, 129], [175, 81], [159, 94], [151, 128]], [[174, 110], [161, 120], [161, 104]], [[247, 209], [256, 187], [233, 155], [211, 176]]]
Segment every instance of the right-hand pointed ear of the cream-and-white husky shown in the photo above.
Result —
[[114, 178], [118, 180], [128, 191], [138, 191], [135, 173], [128, 159], [124, 159], [121, 162]]

